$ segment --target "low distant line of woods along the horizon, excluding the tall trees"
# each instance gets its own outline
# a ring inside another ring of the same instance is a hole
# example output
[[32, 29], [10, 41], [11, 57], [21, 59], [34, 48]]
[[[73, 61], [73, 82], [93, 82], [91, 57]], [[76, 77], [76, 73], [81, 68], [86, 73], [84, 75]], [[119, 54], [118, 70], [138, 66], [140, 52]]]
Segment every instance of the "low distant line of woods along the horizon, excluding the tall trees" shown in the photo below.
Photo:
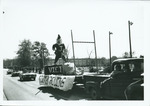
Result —
[[[117, 59], [116, 56], [113, 56], [112, 57], [112, 61]], [[74, 62], [73, 58], [69, 58], [68, 59], [68, 62]], [[18, 59], [6, 59], [6, 60], [3, 60], [3, 65], [5, 68], [12, 68], [13, 67], [23, 67], [20, 65]], [[38, 68], [38, 69], [42, 69], [43, 66], [40, 65], [40, 60], [39, 62], [36, 62], [36, 61], [31, 61], [30, 62], [31, 65], [28, 65], [28, 66], [24, 66], [24, 67], [34, 67], [34, 68]], [[35, 64], [37, 63], [37, 64]], [[57, 64], [63, 64], [64, 61], [62, 59], [60, 59], [58, 61]], [[45, 63], [44, 65], [53, 65], [54, 64], [54, 59], [51, 59], [51, 58], [46, 58], [45, 59]], [[96, 66], [96, 61], [94, 58], [76, 58], [75, 59], [75, 65], [77, 67], [95, 67]], [[109, 59], [106, 59], [105, 57], [102, 57], [102, 58], [98, 58], [97, 59], [97, 66], [98, 67], [107, 67], [110, 65], [110, 61]]]

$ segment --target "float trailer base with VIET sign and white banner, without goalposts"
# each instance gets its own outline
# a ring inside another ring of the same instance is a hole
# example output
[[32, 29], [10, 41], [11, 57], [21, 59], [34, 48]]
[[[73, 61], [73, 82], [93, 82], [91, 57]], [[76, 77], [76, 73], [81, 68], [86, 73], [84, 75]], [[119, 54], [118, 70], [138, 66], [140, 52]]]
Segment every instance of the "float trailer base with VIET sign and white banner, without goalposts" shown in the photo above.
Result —
[[[73, 64], [73, 63], [67, 63]], [[40, 85], [50, 86], [63, 91], [71, 90], [76, 83], [83, 83], [83, 73], [75, 73], [74, 67], [71, 70], [64, 65], [45, 66], [44, 75], [39, 77]], [[66, 70], [65, 70], [66, 69]], [[77, 72], [77, 69], [76, 69]], [[78, 71], [79, 72], [79, 71]]]

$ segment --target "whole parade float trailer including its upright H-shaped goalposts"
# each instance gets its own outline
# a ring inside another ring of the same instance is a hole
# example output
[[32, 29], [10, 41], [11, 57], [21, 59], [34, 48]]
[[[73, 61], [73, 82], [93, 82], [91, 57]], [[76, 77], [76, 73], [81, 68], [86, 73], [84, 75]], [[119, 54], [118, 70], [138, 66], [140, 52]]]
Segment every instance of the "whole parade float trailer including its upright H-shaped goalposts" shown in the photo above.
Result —
[[94, 41], [74, 41], [71, 30], [72, 50], [74, 63], [64, 63], [61, 65], [52, 65], [44, 67], [44, 74], [39, 77], [39, 83], [43, 86], [50, 86], [63, 91], [71, 90], [75, 84], [84, 84], [84, 70], [76, 67], [74, 43], [91, 43], [95, 48], [95, 61], [97, 66], [95, 31], [93, 30]]

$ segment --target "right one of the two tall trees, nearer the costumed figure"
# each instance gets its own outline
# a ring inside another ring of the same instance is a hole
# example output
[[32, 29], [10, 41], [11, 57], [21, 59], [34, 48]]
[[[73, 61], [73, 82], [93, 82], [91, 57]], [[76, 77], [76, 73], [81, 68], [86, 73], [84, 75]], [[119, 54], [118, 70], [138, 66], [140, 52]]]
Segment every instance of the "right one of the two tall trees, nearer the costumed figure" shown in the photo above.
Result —
[[33, 50], [33, 57], [35, 60], [38, 60], [40, 64], [40, 68], [43, 69], [46, 59], [49, 56], [49, 51], [46, 48], [45, 43], [40, 43], [39, 41], [35, 41], [34, 44], [32, 45], [32, 50]]

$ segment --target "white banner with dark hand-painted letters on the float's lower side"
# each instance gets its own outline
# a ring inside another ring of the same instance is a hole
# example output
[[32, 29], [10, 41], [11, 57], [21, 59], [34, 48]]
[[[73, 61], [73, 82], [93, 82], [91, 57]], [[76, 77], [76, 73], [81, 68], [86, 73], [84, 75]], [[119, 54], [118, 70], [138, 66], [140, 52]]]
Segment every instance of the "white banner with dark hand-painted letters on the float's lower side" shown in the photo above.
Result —
[[46, 85], [63, 91], [72, 89], [75, 76], [44, 75], [39, 77], [40, 85]]

